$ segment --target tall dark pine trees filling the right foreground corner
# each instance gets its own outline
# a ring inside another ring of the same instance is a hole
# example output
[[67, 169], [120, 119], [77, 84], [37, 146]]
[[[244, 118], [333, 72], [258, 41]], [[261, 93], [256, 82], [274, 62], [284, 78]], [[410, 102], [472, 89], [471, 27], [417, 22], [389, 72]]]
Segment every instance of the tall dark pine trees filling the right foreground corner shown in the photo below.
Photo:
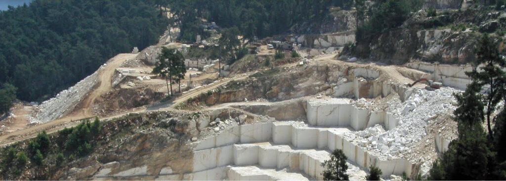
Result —
[[[473, 71], [466, 72], [472, 83], [465, 92], [455, 94], [459, 106], [453, 113], [458, 138], [450, 142], [448, 151], [433, 163], [429, 179], [506, 179], [502, 138], [506, 117], [504, 107], [493, 118], [494, 130], [490, 128], [490, 114], [499, 101], [506, 100], [506, 73], [502, 71], [506, 62], [501, 58], [497, 47], [498, 44], [486, 35], [480, 39], [476, 50], [478, 60], [474, 63]], [[477, 71], [478, 65], [484, 65], [480, 72]], [[481, 94], [482, 90], [486, 94]], [[488, 137], [482, 126], [485, 120]]]

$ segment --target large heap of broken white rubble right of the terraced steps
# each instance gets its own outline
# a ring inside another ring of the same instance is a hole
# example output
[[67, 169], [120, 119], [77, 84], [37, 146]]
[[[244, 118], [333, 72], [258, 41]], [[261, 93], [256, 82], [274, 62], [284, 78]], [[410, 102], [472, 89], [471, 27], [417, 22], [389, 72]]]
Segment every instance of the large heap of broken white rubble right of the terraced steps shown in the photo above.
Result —
[[[398, 120], [397, 127], [387, 131], [381, 125], [375, 125], [363, 131], [348, 133], [345, 137], [377, 153], [382, 158], [401, 157], [414, 162], [431, 163], [431, 160], [410, 157], [413, 155], [409, 154], [413, 150], [411, 147], [427, 135], [428, 123], [433, 122], [440, 115], [451, 114], [451, 111], [456, 108], [455, 98], [452, 95], [456, 92], [458, 90], [447, 87], [435, 91], [413, 89], [406, 101], [392, 99], [387, 102], [390, 105], [387, 111]], [[365, 100], [359, 99], [356, 102], [374, 106]], [[425, 165], [430, 166], [430, 164]]]

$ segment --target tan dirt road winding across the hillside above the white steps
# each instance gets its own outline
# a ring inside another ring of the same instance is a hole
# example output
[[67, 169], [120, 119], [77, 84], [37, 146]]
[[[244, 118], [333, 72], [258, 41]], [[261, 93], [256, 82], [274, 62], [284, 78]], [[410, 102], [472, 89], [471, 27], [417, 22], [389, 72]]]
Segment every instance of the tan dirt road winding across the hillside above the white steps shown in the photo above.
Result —
[[[326, 54], [326, 55], [316, 57], [315, 62], [317, 64], [320, 64], [320, 63], [322, 63], [322, 64], [324, 64], [324, 63], [349, 64], [350, 66], [354, 66], [354, 67], [355, 66], [356, 67], [372, 66], [373, 68], [383, 70], [386, 74], [388, 74], [389, 78], [397, 80], [398, 82], [401, 82], [401, 83], [412, 82], [411, 79], [402, 76], [397, 71], [398, 66], [382, 66], [382, 65], [376, 65], [374, 63], [343, 62], [343, 61], [336, 60], [334, 58], [335, 55], [336, 55], [335, 53], [332, 53], [332, 54]], [[124, 62], [126, 59], [134, 58], [135, 56], [136, 56], [136, 54], [126, 53], [126, 54], [118, 54], [115, 57], [113, 57], [111, 59], [111, 61], [109, 61], [107, 63], [107, 66], [103, 70], [101, 70], [101, 72], [100, 72], [100, 85], [90, 95], [88, 95], [88, 97], [86, 97], [85, 100], [82, 101], [82, 106], [81, 106], [82, 108], [81, 109], [75, 110], [71, 114], [68, 114], [62, 118], [57, 119], [57, 120], [53, 120], [52, 122], [37, 125], [37, 126], [31, 127], [31, 128], [24, 129], [24, 130], [14, 131], [12, 133], [0, 136], [0, 145], [5, 145], [5, 144], [9, 144], [9, 143], [13, 143], [16, 141], [20, 141], [20, 140], [34, 137], [41, 130], [47, 130], [49, 133], [51, 133], [51, 132], [55, 132], [60, 129], [63, 129], [64, 127], [75, 126], [76, 124], [78, 124], [78, 121], [76, 121], [76, 120], [95, 116], [93, 114], [93, 102], [100, 95], [107, 93], [109, 90], [112, 89], [111, 79], [112, 79], [115, 69], [118, 68], [121, 65], [121, 63]], [[284, 66], [290, 67], [290, 66], [297, 66], [298, 64], [299, 63], [293, 63], [293, 64], [287, 64]], [[415, 70], [413, 70], [413, 71], [415, 71]], [[254, 73], [254, 72], [251, 72], [249, 74], [243, 74], [241, 76], [237, 76], [234, 78], [224, 78], [218, 83], [207, 85], [205, 87], [202, 87], [197, 90], [183, 94], [181, 97], [178, 97], [174, 101], [166, 103], [166, 104], [148, 106], [147, 108], [140, 108], [140, 109], [136, 108], [135, 110], [125, 111], [122, 113], [118, 113], [118, 114], [111, 115], [108, 117], [101, 117], [101, 118], [119, 117], [119, 116], [128, 114], [130, 112], [145, 112], [145, 111], [155, 111], [155, 110], [175, 110], [174, 109], [175, 105], [177, 105], [181, 102], [184, 102], [187, 99], [195, 97], [195, 96], [197, 96], [201, 93], [207, 92], [209, 90], [215, 89], [218, 86], [227, 84], [231, 80], [245, 79], [249, 75], [251, 75], [252, 73]]]

